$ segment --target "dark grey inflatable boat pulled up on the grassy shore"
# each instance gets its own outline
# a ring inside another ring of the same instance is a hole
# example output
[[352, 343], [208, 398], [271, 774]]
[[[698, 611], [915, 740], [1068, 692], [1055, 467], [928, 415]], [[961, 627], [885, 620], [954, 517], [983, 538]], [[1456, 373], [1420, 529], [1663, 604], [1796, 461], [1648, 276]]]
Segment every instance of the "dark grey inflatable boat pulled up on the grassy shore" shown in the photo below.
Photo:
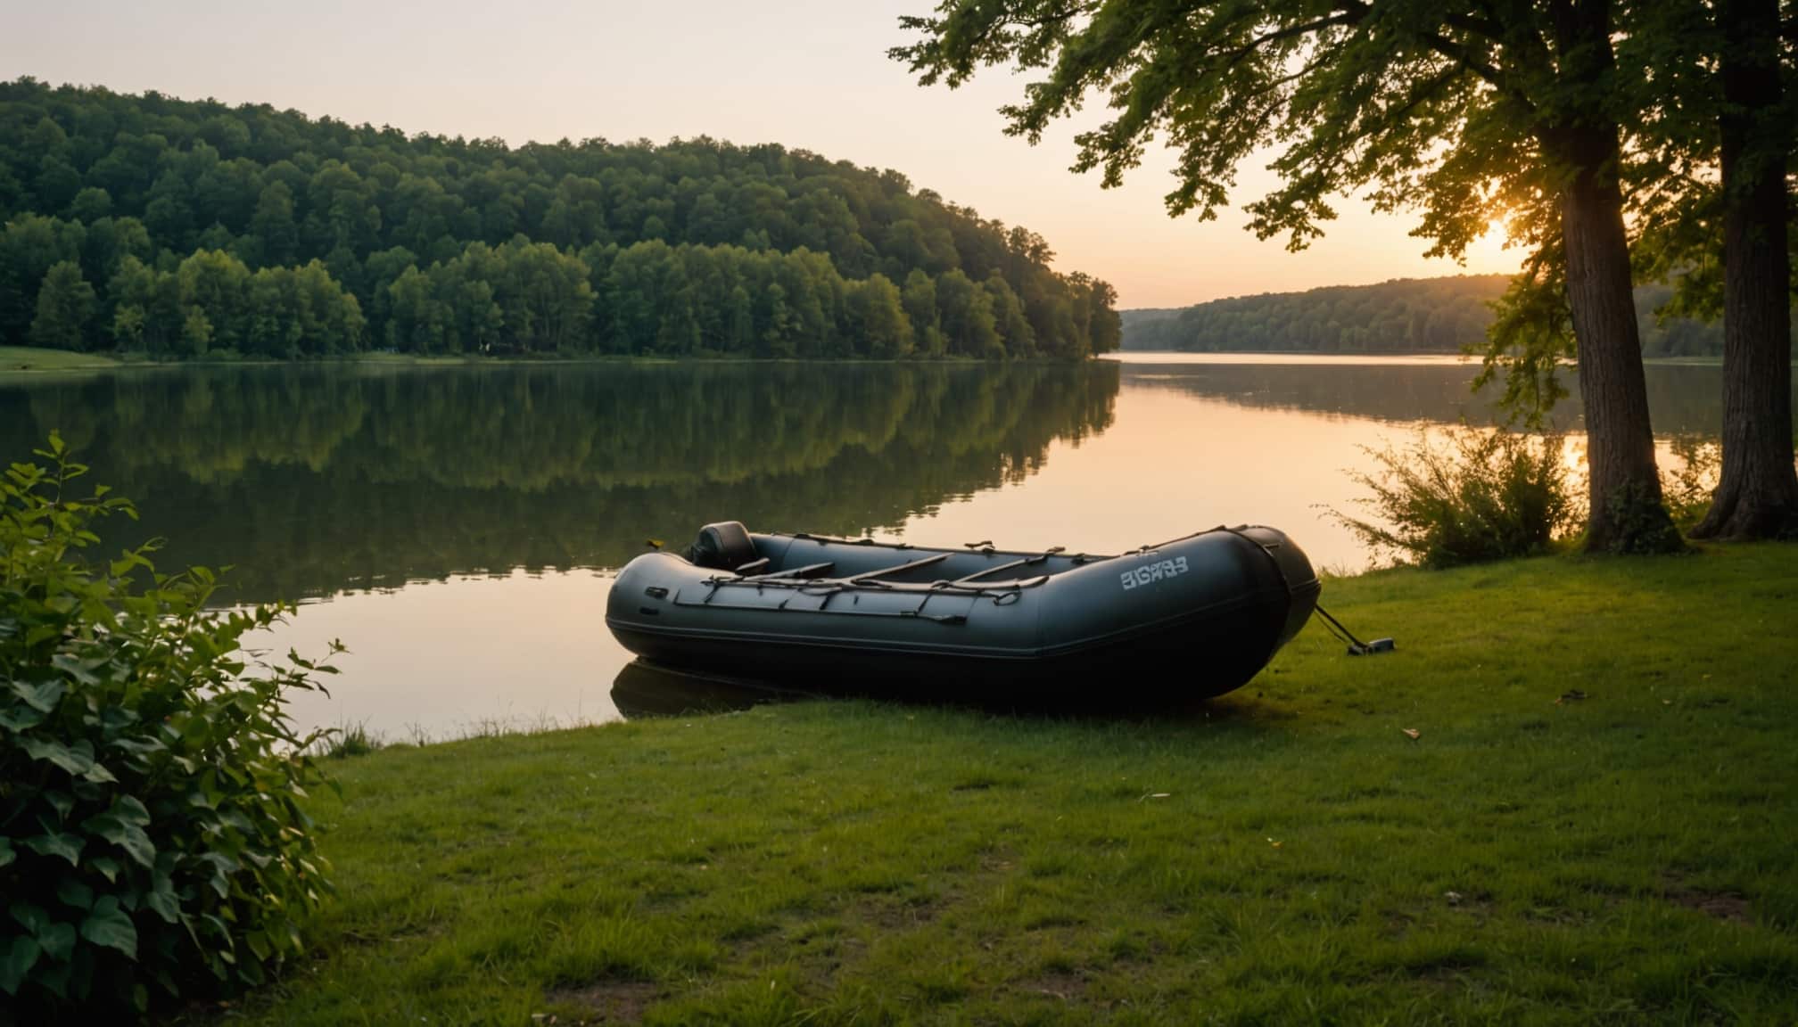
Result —
[[619, 572], [606, 626], [665, 667], [940, 694], [1241, 687], [1311, 617], [1318, 577], [1269, 527], [1120, 556], [922, 549], [707, 525]]

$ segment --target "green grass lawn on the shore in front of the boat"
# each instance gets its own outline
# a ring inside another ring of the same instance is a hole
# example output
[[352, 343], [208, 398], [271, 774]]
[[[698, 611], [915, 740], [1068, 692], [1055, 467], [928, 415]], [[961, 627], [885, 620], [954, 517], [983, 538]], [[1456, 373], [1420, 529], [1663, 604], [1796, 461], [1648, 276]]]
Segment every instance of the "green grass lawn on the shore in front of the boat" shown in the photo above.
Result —
[[[1397, 653], [1313, 626], [1181, 718], [811, 701], [333, 763], [316, 959], [230, 1016], [1798, 1023], [1798, 547], [1325, 599]], [[1144, 682], [1179, 671], [1095, 687]]]

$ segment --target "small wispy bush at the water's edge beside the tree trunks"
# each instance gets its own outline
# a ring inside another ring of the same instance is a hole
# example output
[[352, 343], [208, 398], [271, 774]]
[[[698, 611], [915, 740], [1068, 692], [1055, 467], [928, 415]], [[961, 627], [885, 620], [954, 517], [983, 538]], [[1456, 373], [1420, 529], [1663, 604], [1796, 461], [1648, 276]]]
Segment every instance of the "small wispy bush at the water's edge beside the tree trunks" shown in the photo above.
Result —
[[1559, 435], [1455, 428], [1402, 451], [1366, 450], [1379, 469], [1350, 473], [1377, 520], [1329, 511], [1370, 549], [1424, 567], [1543, 552], [1579, 522]]

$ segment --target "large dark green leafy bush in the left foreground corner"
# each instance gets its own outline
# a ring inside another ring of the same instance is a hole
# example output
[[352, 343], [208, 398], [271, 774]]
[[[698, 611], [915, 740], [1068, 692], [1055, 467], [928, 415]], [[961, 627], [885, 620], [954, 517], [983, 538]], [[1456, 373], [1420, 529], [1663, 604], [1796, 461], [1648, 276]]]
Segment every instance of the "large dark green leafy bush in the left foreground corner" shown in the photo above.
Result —
[[38, 455], [0, 480], [0, 1009], [259, 982], [329, 890], [298, 806], [316, 737], [284, 712], [329, 667], [257, 662], [243, 635], [282, 610], [209, 612], [214, 576], [158, 576], [153, 545], [81, 559], [135, 511], [76, 498], [59, 437]]

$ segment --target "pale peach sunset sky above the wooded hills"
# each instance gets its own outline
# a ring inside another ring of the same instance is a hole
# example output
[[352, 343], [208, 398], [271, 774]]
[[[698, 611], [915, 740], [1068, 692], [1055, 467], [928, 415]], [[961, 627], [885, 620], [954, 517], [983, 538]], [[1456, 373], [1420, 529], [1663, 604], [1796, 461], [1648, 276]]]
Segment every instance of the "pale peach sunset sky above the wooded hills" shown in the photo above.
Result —
[[[1027, 79], [991, 70], [919, 88], [885, 52], [899, 14], [930, 0], [620, 4], [581, 0], [59, 0], [0, 13], [7, 77], [271, 103], [406, 131], [509, 142], [712, 135], [894, 167], [984, 216], [1041, 232], [1061, 270], [1118, 288], [1118, 306], [1447, 275], [1408, 236], [1415, 219], [1345, 200], [1304, 254], [1217, 221], [1169, 219], [1170, 158], [1151, 151], [1122, 189], [1068, 171], [1073, 124], [1041, 146], [1003, 135]], [[1086, 124], [1100, 112], [1086, 112]], [[1241, 198], [1271, 176], [1242, 169]], [[1489, 236], [1465, 272], [1509, 272]]]

